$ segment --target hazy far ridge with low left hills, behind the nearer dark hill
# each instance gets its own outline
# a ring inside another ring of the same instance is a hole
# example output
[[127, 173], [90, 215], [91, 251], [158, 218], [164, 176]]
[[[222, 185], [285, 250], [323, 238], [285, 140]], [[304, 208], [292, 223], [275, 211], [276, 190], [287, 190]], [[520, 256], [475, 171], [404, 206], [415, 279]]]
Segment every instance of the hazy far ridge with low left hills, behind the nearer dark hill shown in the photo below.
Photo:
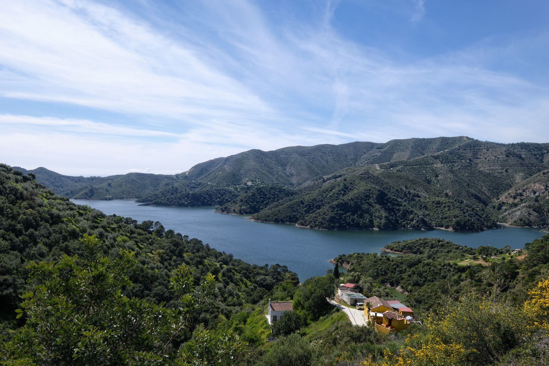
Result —
[[[295, 146], [273, 151], [249, 150], [197, 164], [188, 172], [175, 176], [127, 173], [108, 177], [73, 177], [44, 167], [33, 170], [14, 168], [24, 173], [34, 173], [38, 183], [69, 198], [138, 198], [143, 202], [153, 202], [168, 196], [193, 192], [201, 188], [201, 183], [210, 183], [209, 188], [248, 184], [293, 186], [357, 164], [377, 164], [435, 154], [467, 140], [467, 137], [439, 137], [391, 140], [386, 143], [353, 142], [341, 145]], [[194, 182], [194, 185], [187, 184], [189, 182]], [[183, 198], [182, 202], [185, 201], [188, 199]], [[154, 202], [158, 205], [170, 203]], [[210, 202], [212, 203], [215, 204]]]

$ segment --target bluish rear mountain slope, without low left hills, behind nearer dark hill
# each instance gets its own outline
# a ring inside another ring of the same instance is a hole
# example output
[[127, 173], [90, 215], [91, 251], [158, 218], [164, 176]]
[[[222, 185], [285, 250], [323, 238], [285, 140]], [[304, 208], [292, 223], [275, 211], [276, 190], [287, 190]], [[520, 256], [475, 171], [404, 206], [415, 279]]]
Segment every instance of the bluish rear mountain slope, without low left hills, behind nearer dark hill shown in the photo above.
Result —
[[451, 149], [468, 137], [412, 138], [386, 143], [294, 146], [273, 151], [249, 150], [193, 166], [189, 179], [216, 184], [301, 184], [343, 168], [409, 160]]

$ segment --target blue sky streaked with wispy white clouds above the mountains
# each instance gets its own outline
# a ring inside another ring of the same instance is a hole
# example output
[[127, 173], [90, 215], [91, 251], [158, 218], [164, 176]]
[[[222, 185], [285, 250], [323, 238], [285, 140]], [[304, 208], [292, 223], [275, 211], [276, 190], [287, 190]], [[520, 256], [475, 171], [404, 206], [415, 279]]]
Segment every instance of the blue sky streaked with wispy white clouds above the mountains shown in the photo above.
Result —
[[0, 161], [172, 174], [249, 149], [549, 142], [549, 2], [2, 0]]

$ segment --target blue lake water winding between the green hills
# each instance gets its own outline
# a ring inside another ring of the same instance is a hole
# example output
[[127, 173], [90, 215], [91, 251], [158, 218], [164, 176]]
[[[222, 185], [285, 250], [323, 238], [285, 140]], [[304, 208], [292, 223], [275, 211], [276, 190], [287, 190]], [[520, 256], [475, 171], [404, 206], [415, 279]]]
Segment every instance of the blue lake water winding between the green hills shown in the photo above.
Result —
[[160, 221], [190, 238], [198, 238], [211, 247], [231, 253], [249, 263], [285, 264], [298, 273], [301, 281], [324, 275], [333, 268], [330, 259], [353, 252], [379, 253], [385, 244], [396, 240], [438, 237], [454, 243], [477, 247], [506, 245], [522, 248], [544, 233], [539, 229], [505, 228], [485, 230], [481, 233], [456, 233], [447, 230], [348, 230], [327, 231], [298, 228], [293, 224], [254, 222], [247, 216], [226, 215], [214, 212], [213, 207], [156, 207], [139, 206], [131, 200], [87, 201], [72, 200], [89, 205], [111, 215]]

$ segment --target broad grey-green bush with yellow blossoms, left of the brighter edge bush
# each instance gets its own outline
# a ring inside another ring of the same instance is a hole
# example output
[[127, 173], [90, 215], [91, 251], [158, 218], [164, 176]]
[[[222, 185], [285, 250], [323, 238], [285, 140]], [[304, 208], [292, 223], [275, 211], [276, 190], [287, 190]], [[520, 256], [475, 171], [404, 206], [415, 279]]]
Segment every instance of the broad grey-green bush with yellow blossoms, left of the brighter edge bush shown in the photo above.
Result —
[[524, 339], [522, 315], [522, 309], [470, 294], [429, 316], [423, 335], [408, 336], [400, 351], [386, 350], [384, 359], [360, 366], [496, 364]]

